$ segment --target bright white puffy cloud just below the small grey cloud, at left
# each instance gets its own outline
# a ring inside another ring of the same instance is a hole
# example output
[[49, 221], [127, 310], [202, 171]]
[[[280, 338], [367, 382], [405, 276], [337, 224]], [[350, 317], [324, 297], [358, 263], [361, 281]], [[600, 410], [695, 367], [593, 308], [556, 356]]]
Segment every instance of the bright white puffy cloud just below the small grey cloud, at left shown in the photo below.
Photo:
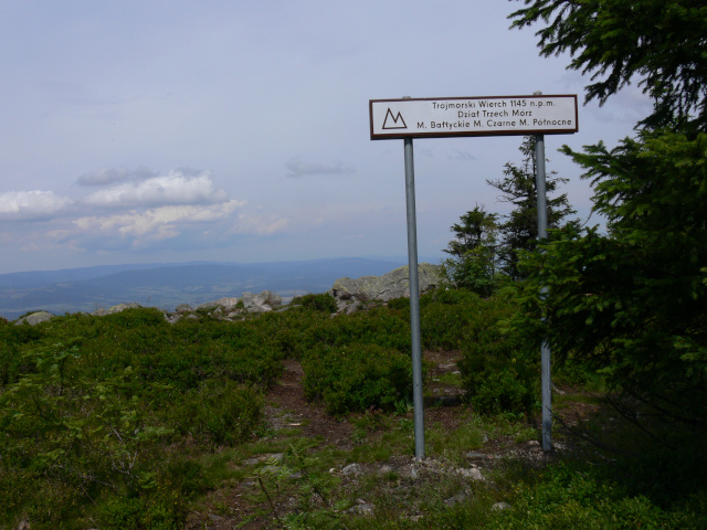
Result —
[[215, 190], [209, 173], [189, 177], [180, 171], [152, 177], [143, 182], [127, 182], [96, 191], [84, 203], [103, 208], [131, 208], [166, 204], [214, 204], [228, 201], [229, 193]]

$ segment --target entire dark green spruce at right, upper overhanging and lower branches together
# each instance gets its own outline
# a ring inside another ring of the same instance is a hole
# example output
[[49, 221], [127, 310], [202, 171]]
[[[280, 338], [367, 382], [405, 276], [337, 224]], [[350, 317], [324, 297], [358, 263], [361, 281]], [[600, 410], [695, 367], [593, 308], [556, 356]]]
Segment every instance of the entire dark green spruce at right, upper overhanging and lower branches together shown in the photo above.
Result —
[[[654, 112], [635, 138], [563, 151], [594, 188], [608, 234], [569, 226], [519, 267], [516, 328], [560, 360], [599, 371], [631, 416], [704, 435], [707, 405], [707, 7], [697, 0], [525, 0], [513, 26], [541, 22], [541, 54], [570, 51], [604, 103], [637, 80]], [[641, 125], [640, 124], [640, 125]], [[540, 296], [547, 286], [547, 296]], [[545, 326], [538, 317], [545, 317]], [[639, 409], [642, 409], [637, 414]]]

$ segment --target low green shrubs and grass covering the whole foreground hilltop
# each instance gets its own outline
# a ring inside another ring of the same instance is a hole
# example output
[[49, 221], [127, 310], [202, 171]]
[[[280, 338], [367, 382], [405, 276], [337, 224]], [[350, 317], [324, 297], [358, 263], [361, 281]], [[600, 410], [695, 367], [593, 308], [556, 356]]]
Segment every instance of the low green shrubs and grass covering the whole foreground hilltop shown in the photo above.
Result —
[[[503, 294], [422, 298], [429, 458], [415, 464], [408, 300], [337, 316], [333, 303], [236, 322], [147, 308], [2, 321], [0, 528], [707, 523], [699, 441], [672, 432], [680, 449], [665, 452], [619, 420], [606, 430], [598, 398], [577, 392], [600, 378], [580, 365], [559, 372], [574, 391], [558, 406], [619, 453], [559, 433], [563, 449], [539, 453], [538, 356], [507, 328], [518, 308]], [[275, 400], [284, 367], [312, 409]]]

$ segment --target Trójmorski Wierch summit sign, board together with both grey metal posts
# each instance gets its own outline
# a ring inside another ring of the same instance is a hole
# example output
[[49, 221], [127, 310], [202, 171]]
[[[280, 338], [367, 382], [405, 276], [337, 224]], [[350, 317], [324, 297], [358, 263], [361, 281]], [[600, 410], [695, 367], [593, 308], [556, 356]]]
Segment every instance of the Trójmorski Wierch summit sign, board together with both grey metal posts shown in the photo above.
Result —
[[[577, 95], [445, 97], [369, 100], [371, 140], [404, 140], [405, 199], [408, 204], [408, 263], [410, 271], [410, 328], [415, 417], [415, 458], [424, 458], [422, 350], [420, 340], [420, 283], [415, 220], [413, 138], [454, 136], [536, 135], [538, 237], [547, 237], [545, 136], [577, 132]], [[547, 290], [544, 288], [542, 295]], [[542, 449], [550, 451], [550, 349], [542, 344]]]

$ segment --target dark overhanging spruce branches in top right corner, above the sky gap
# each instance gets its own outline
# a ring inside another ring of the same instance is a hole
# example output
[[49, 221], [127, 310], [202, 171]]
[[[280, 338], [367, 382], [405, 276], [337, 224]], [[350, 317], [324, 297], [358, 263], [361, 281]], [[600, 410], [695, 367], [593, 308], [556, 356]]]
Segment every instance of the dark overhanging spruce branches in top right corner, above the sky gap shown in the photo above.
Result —
[[701, 0], [524, 0], [511, 28], [537, 31], [541, 55], [570, 52], [569, 68], [592, 74], [587, 100], [600, 105], [639, 80], [655, 102], [651, 126], [696, 114], [707, 125], [707, 7]]

